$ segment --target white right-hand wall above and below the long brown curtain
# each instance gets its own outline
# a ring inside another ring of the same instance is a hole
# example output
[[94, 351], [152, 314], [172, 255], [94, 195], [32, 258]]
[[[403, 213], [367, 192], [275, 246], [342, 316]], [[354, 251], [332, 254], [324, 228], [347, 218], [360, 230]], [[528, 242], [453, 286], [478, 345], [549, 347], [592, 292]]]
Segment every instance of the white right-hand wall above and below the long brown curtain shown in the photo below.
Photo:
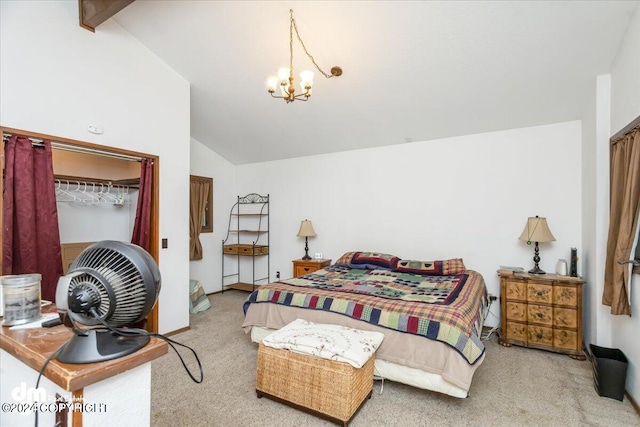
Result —
[[[611, 135], [640, 116], [640, 9], [627, 28], [624, 40], [611, 66]], [[607, 142], [608, 147], [608, 142]], [[607, 157], [606, 161], [609, 159]], [[613, 316], [611, 344], [629, 359], [627, 390], [640, 402], [640, 275], [633, 277], [631, 317]]]

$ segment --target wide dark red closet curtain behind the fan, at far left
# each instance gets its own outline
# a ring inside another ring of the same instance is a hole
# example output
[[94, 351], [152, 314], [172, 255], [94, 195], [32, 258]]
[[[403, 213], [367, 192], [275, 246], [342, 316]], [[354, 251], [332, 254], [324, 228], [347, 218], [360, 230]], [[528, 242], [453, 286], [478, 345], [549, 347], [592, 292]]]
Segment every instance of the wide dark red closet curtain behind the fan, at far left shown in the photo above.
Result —
[[62, 257], [51, 142], [13, 135], [4, 154], [2, 274], [40, 273], [42, 298], [54, 301]]

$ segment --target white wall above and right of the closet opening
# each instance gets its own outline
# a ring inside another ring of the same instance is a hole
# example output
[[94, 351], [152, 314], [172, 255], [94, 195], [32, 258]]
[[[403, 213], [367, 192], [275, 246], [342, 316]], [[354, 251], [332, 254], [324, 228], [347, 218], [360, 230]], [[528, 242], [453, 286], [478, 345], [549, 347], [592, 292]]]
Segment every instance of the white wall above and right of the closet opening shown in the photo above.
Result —
[[0, 124], [160, 156], [159, 327], [188, 326], [189, 84], [113, 20], [80, 28], [77, 2], [2, 1], [0, 15]]

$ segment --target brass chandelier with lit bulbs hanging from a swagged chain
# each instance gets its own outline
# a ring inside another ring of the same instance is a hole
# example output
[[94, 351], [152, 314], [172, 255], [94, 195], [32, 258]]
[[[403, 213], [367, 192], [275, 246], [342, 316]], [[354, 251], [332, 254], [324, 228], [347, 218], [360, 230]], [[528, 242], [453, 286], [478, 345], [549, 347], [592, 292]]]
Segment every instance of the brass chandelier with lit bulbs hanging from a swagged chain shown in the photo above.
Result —
[[[342, 68], [335, 66], [331, 68], [331, 74], [327, 74], [316, 64], [313, 56], [309, 53], [304, 42], [300, 38], [298, 33], [298, 27], [296, 26], [296, 20], [293, 19], [293, 9], [289, 9], [289, 68], [281, 68], [278, 70], [278, 76], [271, 76], [267, 80], [267, 88], [269, 94], [274, 98], [284, 99], [288, 104], [295, 101], [307, 101], [311, 96], [311, 87], [313, 86], [313, 71], [305, 70], [300, 73], [300, 87], [302, 93], [296, 94], [296, 88], [293, 84], [295, 77], [293, 77], [293, 32], [296, 32], [296, 37], [304, 49], [304, 53], [307, 54], [313, 65], [324, 75], [326, 78], [338, 77], [342, 75]], [[276, 87], [280, 86], [281, 95], [275, 95]]]

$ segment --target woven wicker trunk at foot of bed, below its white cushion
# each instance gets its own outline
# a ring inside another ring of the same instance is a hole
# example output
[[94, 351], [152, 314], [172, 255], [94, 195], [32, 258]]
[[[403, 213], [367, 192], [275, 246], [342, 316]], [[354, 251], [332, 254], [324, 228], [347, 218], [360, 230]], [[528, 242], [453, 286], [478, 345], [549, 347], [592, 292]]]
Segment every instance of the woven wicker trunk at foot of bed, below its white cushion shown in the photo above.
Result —
[[260, 343], [256, 393], [346, 426], [371, 397], [374, 361], [358, 369]]

